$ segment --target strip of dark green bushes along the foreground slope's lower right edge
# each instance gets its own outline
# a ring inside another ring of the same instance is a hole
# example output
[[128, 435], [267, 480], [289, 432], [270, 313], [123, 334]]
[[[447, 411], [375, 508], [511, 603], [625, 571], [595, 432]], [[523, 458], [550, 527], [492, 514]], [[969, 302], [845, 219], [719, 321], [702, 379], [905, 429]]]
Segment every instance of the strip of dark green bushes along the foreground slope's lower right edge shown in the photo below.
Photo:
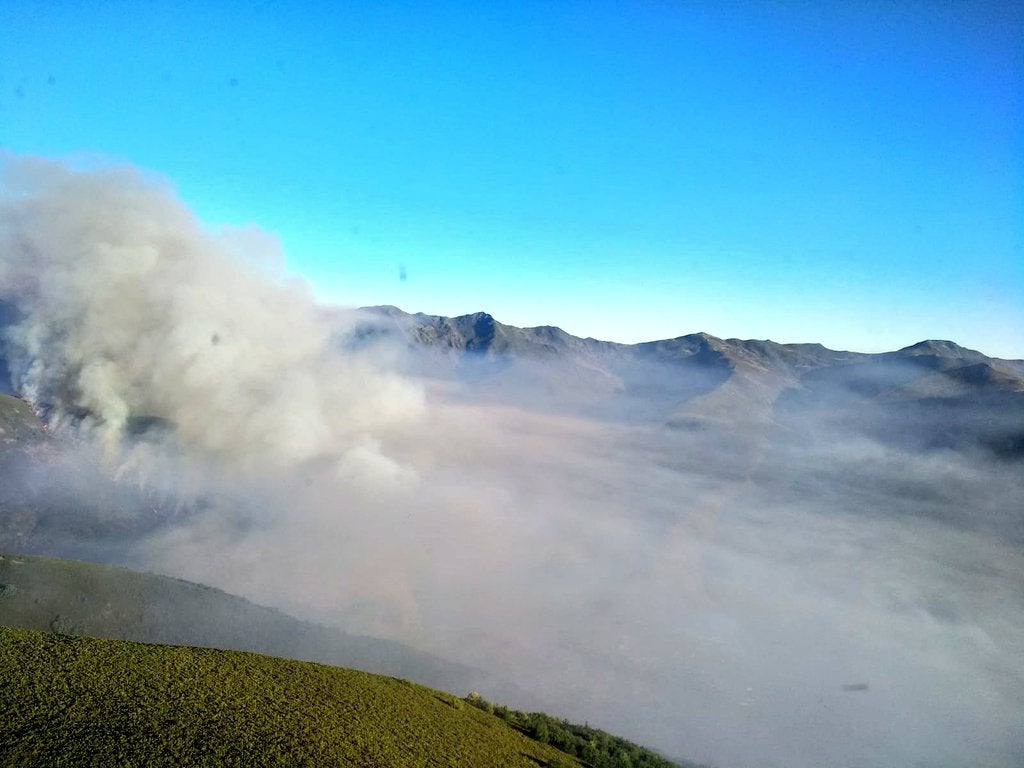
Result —
[[530, 738], [557, 746], [561, 752], [579, 758], [584, 765], [594, 768], [701, 768], [696, 763], [685, 761], [673, 763], [625, 738], [589, 725], [568, 723], [543, 712], [516, 712], [508, 707], [495, 706], [474, 693], [466, 700], [478, 710], [501, 718]]

